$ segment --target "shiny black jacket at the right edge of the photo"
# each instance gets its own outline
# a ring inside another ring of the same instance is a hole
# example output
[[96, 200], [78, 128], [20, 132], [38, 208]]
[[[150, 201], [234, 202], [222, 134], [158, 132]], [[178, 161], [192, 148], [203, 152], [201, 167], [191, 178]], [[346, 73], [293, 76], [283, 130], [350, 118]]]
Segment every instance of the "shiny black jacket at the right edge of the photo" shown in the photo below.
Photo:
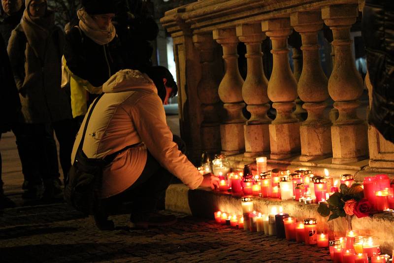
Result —
[[394, 1], [366, 0], [362, 14], [369, 78], [373, 86], [369, 122], [394, 142]]

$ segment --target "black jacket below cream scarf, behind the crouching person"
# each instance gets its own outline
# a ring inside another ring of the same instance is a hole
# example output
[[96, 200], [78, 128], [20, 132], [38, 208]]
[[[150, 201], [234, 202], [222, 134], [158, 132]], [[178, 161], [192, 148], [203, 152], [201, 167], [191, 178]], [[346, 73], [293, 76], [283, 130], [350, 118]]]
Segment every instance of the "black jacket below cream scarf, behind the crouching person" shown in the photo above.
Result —
[[77, 27], [66, 34], [64, 56], [68, 69], [78, 77], [100, 87], [110, 76], [123, 68], [117, 36], [106, 45], [99, 45]]

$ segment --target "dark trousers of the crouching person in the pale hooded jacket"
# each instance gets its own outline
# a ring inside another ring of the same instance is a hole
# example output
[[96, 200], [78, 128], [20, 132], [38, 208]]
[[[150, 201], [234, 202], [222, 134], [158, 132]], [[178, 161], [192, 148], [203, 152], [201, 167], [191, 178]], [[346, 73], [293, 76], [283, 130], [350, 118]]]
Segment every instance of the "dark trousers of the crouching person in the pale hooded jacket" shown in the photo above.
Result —
[[103, 199], [103, 203], [106, 207], [113, 207], [112, 204], [131, 200], [131, 220], [139, 220], [144, 214], [156, 210], [157, 202], [164, 197], [172, 177], [148, 151], [145, 167], [138, 179], [124, 192]]

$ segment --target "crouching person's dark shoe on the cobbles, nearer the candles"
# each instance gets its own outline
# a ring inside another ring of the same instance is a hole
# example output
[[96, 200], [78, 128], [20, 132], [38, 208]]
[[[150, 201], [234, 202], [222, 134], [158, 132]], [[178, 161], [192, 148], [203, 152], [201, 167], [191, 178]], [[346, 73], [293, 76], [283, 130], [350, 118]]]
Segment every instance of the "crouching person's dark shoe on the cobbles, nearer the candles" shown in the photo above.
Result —
[[175, 224], [177, 221], [174, 215], [163, 215], [160, 213], [146, 213], [143, 215], [133, 215], [130, 217], [131, 228], [164, 227]]

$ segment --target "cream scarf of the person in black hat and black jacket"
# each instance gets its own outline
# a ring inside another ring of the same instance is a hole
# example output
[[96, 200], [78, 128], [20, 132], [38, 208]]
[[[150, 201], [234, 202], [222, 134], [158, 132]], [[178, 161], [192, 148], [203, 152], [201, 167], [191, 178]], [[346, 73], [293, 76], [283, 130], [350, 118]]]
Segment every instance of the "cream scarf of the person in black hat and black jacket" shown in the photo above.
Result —
[[105, 45], [114, 39], [116, 32], [112, 23], [107, 30], [101, 30], [84, 8], [79, 9], [77, 15], [79, 18], [79, 28], [97, 44]]

